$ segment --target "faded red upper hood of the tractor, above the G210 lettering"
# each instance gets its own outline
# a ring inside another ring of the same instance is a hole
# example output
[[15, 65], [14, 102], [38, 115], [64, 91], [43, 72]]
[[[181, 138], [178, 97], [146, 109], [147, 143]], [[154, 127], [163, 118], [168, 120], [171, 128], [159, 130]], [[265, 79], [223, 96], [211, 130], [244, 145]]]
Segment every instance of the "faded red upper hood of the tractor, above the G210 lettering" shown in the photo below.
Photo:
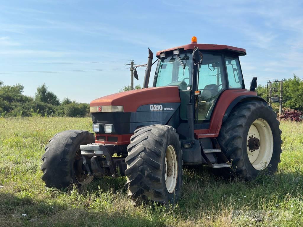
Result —
[[93, 100], [91, 107], [123, 106], [124, 112], [136, 112], [138, 107], [147, 104], [180, 103], [177, 86], [149, 87], [119, 92]]

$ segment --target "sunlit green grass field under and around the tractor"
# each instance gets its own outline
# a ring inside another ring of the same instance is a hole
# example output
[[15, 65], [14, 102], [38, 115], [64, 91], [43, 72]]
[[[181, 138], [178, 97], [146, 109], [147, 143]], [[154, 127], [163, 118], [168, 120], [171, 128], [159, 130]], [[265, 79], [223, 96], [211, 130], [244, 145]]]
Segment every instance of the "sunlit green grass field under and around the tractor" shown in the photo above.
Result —
[[[0, 226], [303, 226], [303, 124], [281, 122], [281, 163], [254, 182], [216, 179], [207, 167], [184, 170], [175, 207], [133, 206], [125, 178], [59, 191], [40, 179], [48, 140], [90, 130], [90, 118], [0, 118]], [[252, 220], [258, 215], [260, 220]]]

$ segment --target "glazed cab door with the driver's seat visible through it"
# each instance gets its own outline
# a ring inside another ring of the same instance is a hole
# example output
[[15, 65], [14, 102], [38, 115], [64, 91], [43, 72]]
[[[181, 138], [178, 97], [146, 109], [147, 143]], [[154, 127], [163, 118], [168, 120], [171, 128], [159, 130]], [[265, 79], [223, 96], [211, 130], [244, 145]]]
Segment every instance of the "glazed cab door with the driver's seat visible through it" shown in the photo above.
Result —
[[[197, 90], [201, 93], [195, 99], [195, 129], [202, 129], [201, 123], [208, 123], [219, 95], [226, 89], [225, 65], [222, 54], [203, 53], [198, 67]], [[204, 124], [203, 129], [206, 129]]]

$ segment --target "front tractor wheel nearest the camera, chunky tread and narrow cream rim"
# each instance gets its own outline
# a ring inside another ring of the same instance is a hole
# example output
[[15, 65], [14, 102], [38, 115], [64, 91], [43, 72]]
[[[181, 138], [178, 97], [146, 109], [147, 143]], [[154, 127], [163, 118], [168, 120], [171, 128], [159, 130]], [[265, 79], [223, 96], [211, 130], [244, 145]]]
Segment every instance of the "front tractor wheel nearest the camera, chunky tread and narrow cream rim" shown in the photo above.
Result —
[[176, 130], [167, 125], [139, 128], [127, 150], [128, 196], [135, 202], [176, 203], [181, 196], [183, 166]]

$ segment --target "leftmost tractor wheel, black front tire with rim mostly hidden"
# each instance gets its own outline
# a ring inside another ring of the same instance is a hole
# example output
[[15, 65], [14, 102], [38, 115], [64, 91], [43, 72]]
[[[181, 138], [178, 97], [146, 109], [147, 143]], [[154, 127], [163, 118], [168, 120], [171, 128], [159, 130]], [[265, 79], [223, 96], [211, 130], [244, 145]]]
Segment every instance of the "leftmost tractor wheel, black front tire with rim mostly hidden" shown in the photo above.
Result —
[[85, 174], [80, 145], [94, 143], [93, 133], [68, 130], [56, 134], [45, 146], [42, 156], [42, 180], [47, 187], [58, 189], [70, 184], [84, 185], [93, 180]]

